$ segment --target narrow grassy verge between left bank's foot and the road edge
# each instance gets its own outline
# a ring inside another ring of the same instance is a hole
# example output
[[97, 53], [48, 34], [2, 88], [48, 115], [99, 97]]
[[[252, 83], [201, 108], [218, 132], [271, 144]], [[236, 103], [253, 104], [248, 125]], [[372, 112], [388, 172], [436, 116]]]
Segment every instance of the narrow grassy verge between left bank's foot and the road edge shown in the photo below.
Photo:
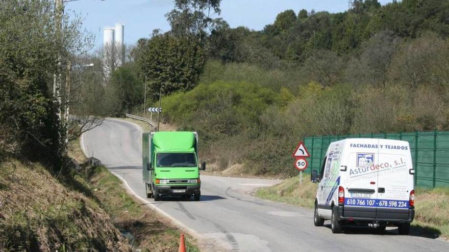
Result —
[[[94, 167], [89, 174], [94, 194], [113, 219], [117, 228], [134, 236], [134, 245], [142, 251], [174, 251], [179, 246], [180, 231], [169, 220], [133, 198], [122, 182], [104, 166]], [[196, 241], [186, 238], [187, 251], [199, 251]]]

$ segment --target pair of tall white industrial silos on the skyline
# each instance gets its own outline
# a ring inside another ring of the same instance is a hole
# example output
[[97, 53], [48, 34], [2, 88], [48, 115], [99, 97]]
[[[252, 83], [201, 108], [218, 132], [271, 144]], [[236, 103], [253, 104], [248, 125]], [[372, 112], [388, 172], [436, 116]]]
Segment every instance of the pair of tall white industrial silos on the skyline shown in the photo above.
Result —
[[115, 27], [103, 29], [103, 71], [106, 78], [124, 62], [124, 25], [116, 23]]

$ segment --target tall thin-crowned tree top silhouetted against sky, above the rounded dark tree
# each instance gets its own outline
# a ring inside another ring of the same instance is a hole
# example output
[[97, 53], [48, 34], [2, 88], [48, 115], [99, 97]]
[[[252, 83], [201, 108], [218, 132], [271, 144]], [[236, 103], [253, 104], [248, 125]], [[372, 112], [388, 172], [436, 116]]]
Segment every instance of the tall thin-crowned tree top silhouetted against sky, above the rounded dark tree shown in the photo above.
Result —
[[220, 14], [220, 2], [221, 0], [175, 0], [174, 9], [165, 15], [171, 26], [171, 33], [176, 36], [193, 36], [202, 43], [208, 30], [220, 20], [210, 17], [212, 13]]

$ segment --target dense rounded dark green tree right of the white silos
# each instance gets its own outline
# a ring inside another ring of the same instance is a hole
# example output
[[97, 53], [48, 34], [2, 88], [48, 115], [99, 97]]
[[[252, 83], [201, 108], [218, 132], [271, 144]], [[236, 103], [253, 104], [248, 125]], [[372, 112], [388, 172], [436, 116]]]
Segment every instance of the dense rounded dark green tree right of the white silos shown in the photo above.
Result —
[[154, 34], [151, 39], [140, 39], [135, 51], [141, 75], [148, 78], [147, 94], [153, 100], [160, 90], [166, 95], [192, 89], [203, 71], [204, 51], [189, 38]]

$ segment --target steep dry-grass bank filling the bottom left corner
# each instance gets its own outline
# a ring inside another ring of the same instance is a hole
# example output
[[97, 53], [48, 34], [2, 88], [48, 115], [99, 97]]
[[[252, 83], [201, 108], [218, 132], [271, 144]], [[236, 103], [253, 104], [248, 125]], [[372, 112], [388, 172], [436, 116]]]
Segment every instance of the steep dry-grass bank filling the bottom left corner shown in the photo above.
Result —
[[131, 251], [96, 200], [73, 190], [75, 184], [66, 186], [40, 164], [2, 160], [0, 251]]

